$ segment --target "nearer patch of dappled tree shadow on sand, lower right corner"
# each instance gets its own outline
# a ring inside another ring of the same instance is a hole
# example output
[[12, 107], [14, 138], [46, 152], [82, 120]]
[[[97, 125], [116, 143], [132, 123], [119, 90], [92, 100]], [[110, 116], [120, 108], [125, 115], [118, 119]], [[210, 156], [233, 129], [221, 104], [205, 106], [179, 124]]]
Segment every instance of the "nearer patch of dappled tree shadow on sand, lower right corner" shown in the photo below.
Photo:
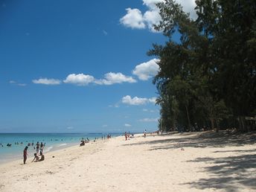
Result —
[[214, 153], [252, 153], [225, 158], [197, 158], [192, 162], [206, 161], [209, 163], [203, 172], [211, 174], [211, 178], [200, 179], [198, 182], [188, 182], [184, 185], [191, 185], [193, 188], [207, 189], [216, 188], [225, 191], [240, 191], [234, 184], [239, 183], [247, 190], [256, 191], [256, 149], [255, 150], [230, 150], [215, 151]]

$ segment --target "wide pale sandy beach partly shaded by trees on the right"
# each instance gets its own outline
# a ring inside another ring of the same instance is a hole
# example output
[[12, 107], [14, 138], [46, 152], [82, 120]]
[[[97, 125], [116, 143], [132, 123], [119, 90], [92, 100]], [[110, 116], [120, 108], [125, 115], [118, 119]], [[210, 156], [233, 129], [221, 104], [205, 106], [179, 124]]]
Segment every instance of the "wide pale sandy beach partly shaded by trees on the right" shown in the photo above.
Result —
[[1, 164], [0, 191], [256, 191], [255, 141], [196, 132], [77, 144]]

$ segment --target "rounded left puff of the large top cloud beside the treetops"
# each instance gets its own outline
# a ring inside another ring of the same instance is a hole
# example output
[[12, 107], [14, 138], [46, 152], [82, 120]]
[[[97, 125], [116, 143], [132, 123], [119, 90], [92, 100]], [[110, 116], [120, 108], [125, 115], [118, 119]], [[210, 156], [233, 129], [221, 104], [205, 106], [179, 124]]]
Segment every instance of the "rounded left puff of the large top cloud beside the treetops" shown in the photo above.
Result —
[[146, 28], [141, 10], [127, 8], [127, 14], [120, 19], [121, 24], [128, 28]]

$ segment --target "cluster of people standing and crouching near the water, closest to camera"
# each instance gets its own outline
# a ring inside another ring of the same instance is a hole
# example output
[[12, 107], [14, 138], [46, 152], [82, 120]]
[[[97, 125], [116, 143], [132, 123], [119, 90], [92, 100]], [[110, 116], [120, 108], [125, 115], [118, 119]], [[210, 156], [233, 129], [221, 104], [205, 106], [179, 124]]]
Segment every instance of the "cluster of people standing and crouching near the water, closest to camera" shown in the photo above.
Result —
[[[31, 146], [31, 144], [28, 146]], [[26, 146], [25, 149], [23, 150], [23, 163], [24, 164], [26, 164], [26, 161], [28, 159], [28, 146]], [[33, 158], [32, 162], [45, 160], [45, 156], [42, 154], [44, 147], [45, 147], [45, 144], [42, 144], [42, 142], [41, 142], [41, 144], [39, 144], [39, 141], [37, 141], [36, 147], [33, 148], [34, 150], [36, 149], [36, 153], [33, 153], [34, 158]], [[41, 156], [41, 158], [40, 158], [40, 156]]]

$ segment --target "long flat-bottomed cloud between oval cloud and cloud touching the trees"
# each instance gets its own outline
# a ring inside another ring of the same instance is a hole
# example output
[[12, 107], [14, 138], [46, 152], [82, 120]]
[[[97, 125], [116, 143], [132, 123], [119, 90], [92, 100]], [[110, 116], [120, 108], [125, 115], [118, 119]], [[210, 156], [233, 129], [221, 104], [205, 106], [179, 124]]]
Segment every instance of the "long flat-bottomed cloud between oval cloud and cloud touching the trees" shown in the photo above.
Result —
[[95, 80], [95, 83], [99, 85], [112, 85], [115, 83], [136, 83], [136, 80], [132, 77], [128, 77], [121, 73], [107, 73], [103, 80]]

